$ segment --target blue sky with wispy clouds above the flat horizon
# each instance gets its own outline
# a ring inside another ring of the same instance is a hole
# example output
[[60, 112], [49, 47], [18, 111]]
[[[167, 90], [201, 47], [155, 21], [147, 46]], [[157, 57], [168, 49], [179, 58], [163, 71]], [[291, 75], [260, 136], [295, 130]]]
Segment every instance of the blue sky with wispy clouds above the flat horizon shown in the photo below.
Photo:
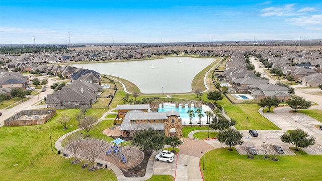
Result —
[[0, 1], [0, 44], [322, 39], [322, 1]]

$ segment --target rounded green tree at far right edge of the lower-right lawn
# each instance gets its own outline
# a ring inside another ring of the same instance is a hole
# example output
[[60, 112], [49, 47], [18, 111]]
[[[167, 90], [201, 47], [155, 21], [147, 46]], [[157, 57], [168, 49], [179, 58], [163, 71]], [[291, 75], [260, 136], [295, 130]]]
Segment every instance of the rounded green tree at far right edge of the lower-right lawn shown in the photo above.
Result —
[[288, 133], [284, 133], [280, 137], [281, 141], [284, 143], [292, 143], [297, 147], [306, 148], [315, 144], [315, 138], [309, 136], [305, 131], [301, 129], [292, 130]]

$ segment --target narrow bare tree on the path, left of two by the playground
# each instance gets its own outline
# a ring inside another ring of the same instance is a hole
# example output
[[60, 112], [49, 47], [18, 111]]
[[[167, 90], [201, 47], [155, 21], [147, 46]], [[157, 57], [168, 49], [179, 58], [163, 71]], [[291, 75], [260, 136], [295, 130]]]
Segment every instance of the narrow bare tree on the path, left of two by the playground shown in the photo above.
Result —
[[72, 164], [79, 162], [79, 160], [76, 159], [76, 153], [82, 148], [81, 139], [82, 136], [80, 134], [72, 134], [67, 136], [64, 140], [64, 144], [66, 145], [65, 148], [74, 155], [74, 160], [70, 162]]

